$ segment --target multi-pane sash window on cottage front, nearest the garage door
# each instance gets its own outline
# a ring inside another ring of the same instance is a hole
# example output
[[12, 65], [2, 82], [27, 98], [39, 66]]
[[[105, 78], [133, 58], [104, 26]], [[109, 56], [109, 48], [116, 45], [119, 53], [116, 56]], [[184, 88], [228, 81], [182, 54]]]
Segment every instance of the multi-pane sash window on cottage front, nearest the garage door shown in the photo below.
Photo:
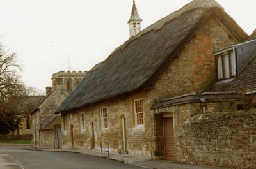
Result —
[[136, 126], [143, 125], [143, 99], [134, 100], [134, 109]]

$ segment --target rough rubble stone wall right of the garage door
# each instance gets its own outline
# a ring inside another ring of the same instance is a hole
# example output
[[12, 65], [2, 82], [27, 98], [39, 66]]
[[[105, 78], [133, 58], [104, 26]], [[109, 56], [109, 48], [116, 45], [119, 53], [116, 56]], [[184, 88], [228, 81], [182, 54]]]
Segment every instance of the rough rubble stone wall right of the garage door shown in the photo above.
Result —
[[256, 110], [195, 115], [182, 127], [180, 162], [255, 168]]

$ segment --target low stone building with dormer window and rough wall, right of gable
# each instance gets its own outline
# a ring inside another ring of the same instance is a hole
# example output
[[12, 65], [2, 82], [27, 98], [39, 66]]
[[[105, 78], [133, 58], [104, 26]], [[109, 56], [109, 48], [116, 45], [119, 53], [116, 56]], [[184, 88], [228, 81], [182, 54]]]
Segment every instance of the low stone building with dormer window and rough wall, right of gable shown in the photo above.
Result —
[[[214, 78], [201, 92], [159, 99], [151, 107], [157, 146], [165, 156], [170, 153], [166, 128], [173, 119], [176, 161], [255, 168], [255, 35], [256, 30], [246, 41], [214, 51]], [[166, 114], [172, 119], [166, 119]]]

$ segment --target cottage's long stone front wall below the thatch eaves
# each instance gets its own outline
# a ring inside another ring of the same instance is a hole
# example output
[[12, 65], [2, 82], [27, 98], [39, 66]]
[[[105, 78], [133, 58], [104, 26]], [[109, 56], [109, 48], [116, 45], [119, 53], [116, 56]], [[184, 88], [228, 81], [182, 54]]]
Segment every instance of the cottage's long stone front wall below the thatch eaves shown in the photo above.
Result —
[[[134, 122], [134, 100], [143, 99], [144, 125], [136, 126]], [[100, 122], [100, 108], [108, 108], [108, 128]], [[85, 114], [85, 131], [81, 131], [79, 115]], [[67, 129], [64, 129], [64, 117], [67, 118]], [[111, 152], [123, 151], [122, 117], [126, 121], [127, 150], [129, 154], [151, 158], [153, 151], [153, 116], [150, 114], [148, 92], [138, 92], [122, 98], [109, 99], [83, 110], [62, 114], [63, 148], [92, 149], [92, 126], [94, 128], [95, 148], [100, 150], [100, 141], [109, 142]], [[74, 146], [72, 145], [72, 126], [74, 128]]]

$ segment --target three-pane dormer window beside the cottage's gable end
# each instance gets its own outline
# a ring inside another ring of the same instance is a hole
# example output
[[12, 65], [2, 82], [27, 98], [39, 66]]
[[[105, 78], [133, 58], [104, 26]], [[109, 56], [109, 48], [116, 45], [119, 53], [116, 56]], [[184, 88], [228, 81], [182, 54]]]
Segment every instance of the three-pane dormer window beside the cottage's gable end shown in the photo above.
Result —
[[216, 55], [216, 70], [218, 80], [225, 80], [236, 75], [236, 58], [233, 50]]

